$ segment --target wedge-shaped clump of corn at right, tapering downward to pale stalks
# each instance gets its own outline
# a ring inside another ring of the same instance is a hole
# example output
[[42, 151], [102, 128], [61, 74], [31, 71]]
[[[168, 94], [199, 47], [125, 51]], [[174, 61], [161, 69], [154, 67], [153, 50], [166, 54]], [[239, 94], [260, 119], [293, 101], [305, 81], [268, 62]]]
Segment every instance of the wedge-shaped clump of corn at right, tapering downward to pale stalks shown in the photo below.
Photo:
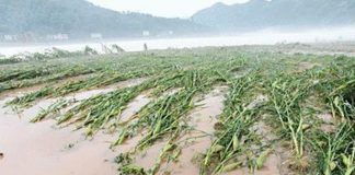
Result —
[[272, 110], [278, 117], [282, 135], [291, 140], [296, 158], [301, 159], [305, 147], [304, 132], [308, 125], [304, 120], [300, 104], [310, 93], [312, 84], [305, 83], [304, 78], [280, 75], [270, 86]]

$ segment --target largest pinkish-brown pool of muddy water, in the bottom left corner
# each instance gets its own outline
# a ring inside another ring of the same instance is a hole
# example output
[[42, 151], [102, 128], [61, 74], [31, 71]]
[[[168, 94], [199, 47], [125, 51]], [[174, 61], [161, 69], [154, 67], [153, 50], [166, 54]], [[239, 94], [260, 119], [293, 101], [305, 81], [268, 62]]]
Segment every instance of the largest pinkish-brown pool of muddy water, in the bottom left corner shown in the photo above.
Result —
[[117, 174], [112, 163], [116, 153], [108, 149], [108, 137], [90, 141], [70, 127], [54, 129], [53, 120], [30, 124], [28, 116], [35, 116], [39, 106], [26, 109], [20, 118], [10, 108], [2, 108], [4, 102], [0, 102], [0, 152], [5, 156], [0, 162], [0, 174]]

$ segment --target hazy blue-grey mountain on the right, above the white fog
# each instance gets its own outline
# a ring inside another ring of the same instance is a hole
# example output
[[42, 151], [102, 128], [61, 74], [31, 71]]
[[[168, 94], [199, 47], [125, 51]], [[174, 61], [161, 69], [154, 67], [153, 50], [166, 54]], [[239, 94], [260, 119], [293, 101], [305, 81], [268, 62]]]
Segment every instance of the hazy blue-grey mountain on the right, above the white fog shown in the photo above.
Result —
[[251, 0], [216, 3], [192, 16], [220, 31], [355, 25], [355, 0]]

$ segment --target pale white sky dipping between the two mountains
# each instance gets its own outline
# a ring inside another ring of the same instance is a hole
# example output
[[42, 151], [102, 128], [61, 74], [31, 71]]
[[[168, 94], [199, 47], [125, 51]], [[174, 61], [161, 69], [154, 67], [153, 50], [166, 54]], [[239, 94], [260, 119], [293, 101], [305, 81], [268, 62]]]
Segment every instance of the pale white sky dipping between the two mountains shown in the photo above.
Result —
[[88, 0], [94, 4], [117, 10], [149, 13], [165, 18], [190, 18], [196, 11], [216, 2], [227, 4], [242, 3], [248, 0]]

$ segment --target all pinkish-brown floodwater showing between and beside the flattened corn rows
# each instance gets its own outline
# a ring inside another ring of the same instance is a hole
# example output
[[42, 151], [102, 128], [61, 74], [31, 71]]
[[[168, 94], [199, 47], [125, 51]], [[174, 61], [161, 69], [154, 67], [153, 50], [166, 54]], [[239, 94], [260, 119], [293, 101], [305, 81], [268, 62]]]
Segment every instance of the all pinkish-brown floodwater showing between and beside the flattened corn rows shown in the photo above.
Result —
[[[139, 82], [141, 81], [126, 81], [122, 85], [82, 91], [65, 98], [82, 101]], [[194, 160], [205, 153], [211, 144], [214, 126], [224, 108], [225, 90], [226, 88], [218, 88], [203, 96], [202, 101], [196, 101], [198, 106], [186, 116], [186, 124], [194, 127], [194, 130], [187, 131], [176, 141], [182, 148], [178, 162], [163, 163], [158, 174], [199, 174], [198, 165]], [[8, 97], [0, 101], [0, 175], [114, 175], [117, 174], [115, 156], [118, 153], [133, 151], [145, 135], [145, 131], [141, 131], [122, 145], [110, 149], [117, 135], [100, 131], [90, 140], [82, 135], [82, 130], [73, 131], [73, 126], [57, 129], [55, 120], [51, 119], [38, 124], [28, 122], [42, 108], [56, 102], [55, 98], [39, 101], [36, 105], [19, 112], [20, 114], [3, 107], [9, 100]], [[123, 112], [121, 121], [129, 119], [151, 101], [149, 94], [138, 95]], [[135, 164], [146, 170], [151, 168], [165, 143], [167, 139], [158, 141], [145, 151], [137, 152]], [[280, 163], [282, 159], [277, 153], [273, 153], [268, 156], [265, 167], [256, 174], [278, 174], [276, 172]], [[242, 175], [250, 172], [248, 168], [242, 168], [227, 174]]]

